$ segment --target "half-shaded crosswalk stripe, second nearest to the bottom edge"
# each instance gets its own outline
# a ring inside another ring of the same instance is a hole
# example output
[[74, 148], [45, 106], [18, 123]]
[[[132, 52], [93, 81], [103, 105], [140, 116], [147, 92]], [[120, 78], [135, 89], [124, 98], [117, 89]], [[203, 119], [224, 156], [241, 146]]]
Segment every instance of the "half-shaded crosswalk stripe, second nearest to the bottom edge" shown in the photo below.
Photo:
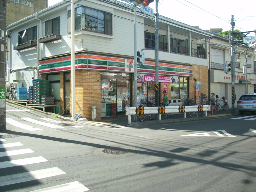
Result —
[[11, 185], [21, 182], [32, 181], [36, 179], [42, 179], [46, 177], [52, 177], [57, 175], [66, 174], [58, 167], [52, 167], [47, 169], [40, 169], [35, 171], [29, 171], [25, 173], [17, 173], [13, 175], [6, 175], [0, 177], [0, 187], [5, 185]]

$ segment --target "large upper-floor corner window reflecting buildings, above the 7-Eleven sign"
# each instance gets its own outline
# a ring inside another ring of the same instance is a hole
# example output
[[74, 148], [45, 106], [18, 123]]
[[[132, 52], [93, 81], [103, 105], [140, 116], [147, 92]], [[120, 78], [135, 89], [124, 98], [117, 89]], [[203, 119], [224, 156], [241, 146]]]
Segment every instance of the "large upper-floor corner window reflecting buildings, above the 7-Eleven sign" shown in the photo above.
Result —
[[[71, 32], [71, 10], [68, 11], [68, 33]], [[112, 14], [88, 7], [75, 9], [75, 30], [87, 29], [112, 35]]]

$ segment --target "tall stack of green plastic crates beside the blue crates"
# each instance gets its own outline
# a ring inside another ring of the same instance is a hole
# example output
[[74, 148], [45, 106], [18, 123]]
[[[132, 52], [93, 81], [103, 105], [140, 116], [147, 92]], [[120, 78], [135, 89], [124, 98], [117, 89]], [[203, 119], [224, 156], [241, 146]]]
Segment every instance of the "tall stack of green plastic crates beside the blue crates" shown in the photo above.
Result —
[[32, 104], [41, 104], [42, 95], [50, 94], [50, 83], [47, 80], [33, 79]]

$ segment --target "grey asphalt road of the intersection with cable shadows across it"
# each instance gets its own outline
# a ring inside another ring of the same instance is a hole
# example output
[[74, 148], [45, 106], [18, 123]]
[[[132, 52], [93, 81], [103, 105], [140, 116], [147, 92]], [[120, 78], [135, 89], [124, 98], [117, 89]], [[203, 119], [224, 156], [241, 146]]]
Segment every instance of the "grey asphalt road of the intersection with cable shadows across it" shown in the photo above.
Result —
[[115, 127], [65, 122], [29, 109], [9, 111], [25, 109], [11, 104], [6, 109], [0, 191], [256, 189], [256, 116]]

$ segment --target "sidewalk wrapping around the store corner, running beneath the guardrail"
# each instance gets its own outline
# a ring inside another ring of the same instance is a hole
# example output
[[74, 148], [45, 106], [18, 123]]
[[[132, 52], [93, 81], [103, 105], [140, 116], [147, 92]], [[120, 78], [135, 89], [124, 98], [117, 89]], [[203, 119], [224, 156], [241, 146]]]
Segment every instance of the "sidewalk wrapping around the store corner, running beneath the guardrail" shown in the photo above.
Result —
[[[18, 105], [17, 103], [14, 103], [10, 100], [7, 100], [8, 103], [12, 103], [14, 105]], [[20, 105], [24, 108], [28, 108], [25, 105]], [[41, 113], [46, 113], [48, 115], [54, 115], [54, 113], [44, 112], [38, 109], [34, 108], [28, 108], [29, 110], [35, 110]], [[231, 108], [229, 108], [228, 111], [217, 111], [217, 114], [211, 115], [211, 112], [207, 112], [207, 117], [205, 117], [205, 114], [202, 114], [202, 112], [199, 112], [197, 118], [191, 118], [189, 114], [187, 113], [186, 118], [184, 118], [184, 113], [172, 115], [171, 117], [168, 116], [167, 118], [161, 117], [161, 120], [151, 120], [147, 117], [145, 117], [144, 121], [140, 121], [137, 119], [137, 122], [134, 122], [134, 118], [132, 117], [132, 123], [128, 124], [128, 116], [125, 117], [109, 117], [109, 119], [104, 119], [101, 121], [78, 121], [73, 120], [64, 116], [59, 115], [58, 118], [62, 119], [64, 121], [76, 121], [77, 123], [86, 124], [86, 125], [105, 125], [110, 127], [130, 127], [130, 126], [140, 126], [140, 125], [152, 125], [152, 124], [163, 124], [163, 123], [174, 123], [174, 122], [185, 122], [185, 121], [197, 121], [197, 120], [205, 120], [205, 119], [211, 119], [211, 118], [221, 118], [223, 116], [233, 116], [238, 115], [239, 112], [237, 111], [235, 107], [235, 113], [231, 113]]]

